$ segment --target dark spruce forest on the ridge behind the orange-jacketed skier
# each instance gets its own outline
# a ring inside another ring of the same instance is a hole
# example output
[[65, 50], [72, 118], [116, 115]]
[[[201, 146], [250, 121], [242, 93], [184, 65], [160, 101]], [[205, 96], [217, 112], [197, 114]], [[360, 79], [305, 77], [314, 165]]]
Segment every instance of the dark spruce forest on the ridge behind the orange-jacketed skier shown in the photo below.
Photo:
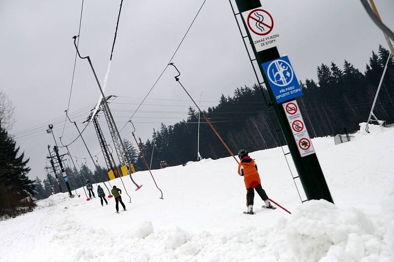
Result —
[[[379, 46], [378, 54], [372, 51], [364, 73], [345, 60], [343, 69], [333, 62], [319, 65], [317, 82], [313, 79], [300, 81], [304, 95], [297, 98], [298, 105], [312, 138], [344, 133], [344, 128], [347, 132], [359, 129], [359, 123], [365, 122], [369, 115], [388, 56], [389, 51]], [[266, 90], [264, 93], [268, 98]], [[232, 97], [222, 94], [219, 104], [208, 108], [204, 114], [233, 153], [240, 148], [255, 151], [284, 144], [281, 133], [275, 129], [275, 125], [279, 127], [276, 116], [268, 111], [256, 85], [238, 87]], [[389, 61], [374, 114], [387, 123], [394, 122], [393, 58]], [[229, 156], [205, 120], [201, 118], [200, 121], [201, 156], [213, 159]], [[190, 107], [186, 120], [168, 126], [162, 123], [151, 140], [143, 143], [139, 139], [148, 162], [155, 144], [152, 169], [159, 169], [162, 160], [171, 166], [197, 160], [197, 123], [198, 111]], [[136, 170], [146, 170], [139, 152], [129, 141], [127, 143]]]

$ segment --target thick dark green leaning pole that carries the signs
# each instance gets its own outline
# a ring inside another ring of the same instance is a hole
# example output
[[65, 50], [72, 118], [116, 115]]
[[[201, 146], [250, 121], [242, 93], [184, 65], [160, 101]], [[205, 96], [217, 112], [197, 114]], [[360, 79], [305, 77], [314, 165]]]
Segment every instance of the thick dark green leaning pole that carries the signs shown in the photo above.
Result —
[[[238, 11], [240, 14], [246, 11], [250, 11], [252, 9], [264, 9], [262, 7], [262, 4], [260, 0], [235, 0], [236, 5], [238, 7]], [[231, 3], [231, 0], [230, 0]], [[264, 11], [265, 12], [265, 11]], [[235, 15], [235, 14], [234, 14]], [[288, 116], [286, 116], [285, 109], [283, 107], [284, 103], [287, 103], [289, 101], [283, 101], [282, 102], [277, 102], [276, 101], [276, 96], [273, 93], [272, 87], [270, 86], [268, 82], [267, 75], [265, 74], [263, 70], [263, 63], [280, 58], [278, 49], [276, 46], [271, 47], [269, 49], [265, 49], [262, 51], [256, 51], [255, 43], [252, 39], [251, 33], [249, 31], [248, 25], [252, 24], [249, 23], [249, 21], [245, 21], [244, 17], [242, 17], [242, 23], [244, 25], [244, 28], [247, 32], [247, 37], [249, 38], [249, 41], [251, 43], [251, 47], [253, 49], [253, 53], [256, 57], [257, 64], [259, 65], [260, 72], [263, 75], [263, 80], [264, 84], [267, 88], [268, 94], [269, 94], [269, 100], [268, 101], [268, 106], [272, 107], [275, 110], [276, 116], [278, 118], [281, 131], [283, 132], [283, 135], [286, 139], [287, 145], [289, 147], [290, 153], [292, 155], [294, 164], [296, 166], [296, 170], [298, 172], [298, 176], [301, 180], [302, 186], [304, 188], [306, 197], [308, 200], [312, 199], [325, 199], [331, 203], [334, 203], [331, 197], [331, 194], [328, 189], [328, 185], [326, 182], [326, 179], [323, 175], [323, 171], [320, 167], [319, 160], [316, 156], [315, 153], [309, 154], [309, 155], [304, 155], [301, 156], [298, 145], [296, 143], [296, 140], [293, 136], [292, 128], [289, 124]], [[271, 17], [272, 18], [272, 17]], [[255, 18], [251, 18], [255, 19]], [[253, 20], [255, 21], [255, 20]], [[252, 22], [253, 22], [252, 21]], [[264, 20], [264, 22], [266, 22]], [[256, 21], [253, 23], [255, 24]], [[260, 25], [261, 27], [261, 25]], [[273, 20], [272, 20], [272, 25], [271, 28], [274, 27]], [[246, 46], [245, 46], [246, 47]], [[262, 83], [259, 83], [259, 86]], [[261, 87], [262, 88], [262, 87]], [[294, 100], [296, 101], [296, 100]], [[280, 131], [280, 130], [278, 130]], [[301, 142], [301, 141], [300, 141]]]

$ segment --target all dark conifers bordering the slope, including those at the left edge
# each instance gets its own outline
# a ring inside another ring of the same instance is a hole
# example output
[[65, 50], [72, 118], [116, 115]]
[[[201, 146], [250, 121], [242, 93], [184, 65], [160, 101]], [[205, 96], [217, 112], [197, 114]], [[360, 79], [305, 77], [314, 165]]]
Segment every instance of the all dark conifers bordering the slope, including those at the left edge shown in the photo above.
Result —
[[[368, 118], [388, 56], [389, 51], [380, 46], [377, 53], [372, 52], [364, 72], [355, 68], [350, 61], [344, 60], [341, 65], [331, 63], [317, 66], [317, 81], [300, 81], [304, 95], [298, 97], [297, 101], [312, 138], [343, 134], [344, 129], [349, 133], [359, 130], [359, 123]], [[237, 87], [232, 96], [222, 95], [217, 106], [204, 112], [234, 154], [240, 148], [256, 151], [284, 145], [282, 134], [276, 132], [279, 125], [275, 113], [265, 104], [263, 92], [268, 98], [266, 90], [262, 91], [256, 85]], [[388, 124], [394, 122], [393, 58], [389, 60], [374, 114]], [[199, 152], [202, 158], [229, 156], [205, 120], [201, 117], [200, 121]], [[139, 139], [139, 146], [148, 162], [153, 151], [152, 169], [159, 169], [162, 160], [168, 161], [170, 166], [181, 165], [197, 161], [197, 132], [198, 111], [190, 107], [187, 119], [174, 125], [162, 124], [151, 139], [145, 142]], [[29, 199], [43, 199], [60, 191], [56, 178], [51, 174], [46, 174], [47, 178], [43, 181], [38, 177], [35, 180], [28, 178], [29, 159], [25, 159], [24, 154], [19, 152], [15, 141], [2, 127], [0, 143], [0, 186], [4, 188], [0, 195], [0, 215], [9, 214], [9, 198], [19, 203], [12, 205], [29, 209], [33, 207], [33, 204], [26, 204], [31, 203]], [[124, 145], [136, 171], [146, 170], [133, 143], [125, 139]], [[106, 181], [106, 169], [98, 167], [92, 172], [85, 162], [77, 162], [75, 165], [78, 170], [71, 162], [66, 163], [66, 174], [72, 190], [85, 186], [86, 180], [93, 183]], [[61, 175], [58, 177], [65, 192], [66, 185]], [[22, 199], [26, 200], [25, 204], [21, 204]]]

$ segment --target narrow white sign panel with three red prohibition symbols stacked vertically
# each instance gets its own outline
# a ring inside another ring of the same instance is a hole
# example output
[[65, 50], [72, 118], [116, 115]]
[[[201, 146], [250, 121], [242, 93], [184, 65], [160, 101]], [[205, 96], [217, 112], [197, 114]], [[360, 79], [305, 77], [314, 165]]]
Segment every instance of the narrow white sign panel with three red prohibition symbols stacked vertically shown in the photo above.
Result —
[[311, 139], [306, 130], [304, 119], [298, 109], [297, 101], [292, 100], [284, 103], [283, 109], [285, 110], [287, 119], [292, 128], [293, 137], [296, 140], [301, 157], [314, 154], [315, 149], [312, 146]]

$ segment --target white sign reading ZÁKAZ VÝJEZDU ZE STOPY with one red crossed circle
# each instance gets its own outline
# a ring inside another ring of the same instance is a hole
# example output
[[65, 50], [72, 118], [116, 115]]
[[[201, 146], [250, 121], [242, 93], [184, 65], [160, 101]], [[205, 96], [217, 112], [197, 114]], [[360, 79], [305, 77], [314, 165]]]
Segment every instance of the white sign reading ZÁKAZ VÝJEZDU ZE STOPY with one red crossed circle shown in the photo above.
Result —
[[274, 47], [279, 40], [275, 32], [274, 17], [265, 7], [248, 10], [242, 13], [256, 52]]

